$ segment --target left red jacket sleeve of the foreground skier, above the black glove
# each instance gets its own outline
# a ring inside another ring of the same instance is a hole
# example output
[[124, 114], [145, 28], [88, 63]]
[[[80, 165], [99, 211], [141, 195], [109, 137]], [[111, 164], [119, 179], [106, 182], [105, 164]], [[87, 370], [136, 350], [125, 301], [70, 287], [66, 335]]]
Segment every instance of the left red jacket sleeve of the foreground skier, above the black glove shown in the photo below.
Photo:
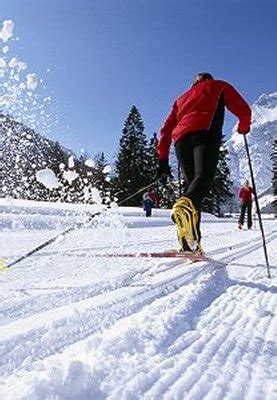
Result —
[[161, 129], [160, 140], [158, 143], [159, 160], [168, 160], [169, 148], [171, 145], [172, 131], [177, 124], [177, 104], [173, 104], [172, 110], [168, 115], [164, 126]]

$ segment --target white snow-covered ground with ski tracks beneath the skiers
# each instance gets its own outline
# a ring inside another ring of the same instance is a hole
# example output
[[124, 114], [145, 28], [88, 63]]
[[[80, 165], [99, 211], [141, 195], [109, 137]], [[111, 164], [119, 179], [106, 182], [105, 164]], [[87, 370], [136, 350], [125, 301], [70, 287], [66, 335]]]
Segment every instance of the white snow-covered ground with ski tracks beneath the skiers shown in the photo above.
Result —
[[[0, 202], [11, 262], [88, 206]], [[277, 398], [276, 220], [260, 232], [204, 216], [223, 263], [105, 257], [176, 247], [169, 212], [114, 208], [0, 272], [0, 399]]]

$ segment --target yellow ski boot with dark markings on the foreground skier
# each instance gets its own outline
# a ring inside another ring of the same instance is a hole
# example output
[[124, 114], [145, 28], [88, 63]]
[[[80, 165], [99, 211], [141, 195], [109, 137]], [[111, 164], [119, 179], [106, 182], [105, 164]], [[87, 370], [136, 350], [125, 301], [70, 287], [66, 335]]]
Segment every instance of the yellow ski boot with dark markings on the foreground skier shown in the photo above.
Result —
[[185, 196], [178, 199], [173, 206], [171, 217], [176, 224], [181, 247], [185, 251], [188, 251], [187, 247], [189, 247], [192, 252], [202, 254], [203, 250], [197, 229], [199, 216], [192, 201]]

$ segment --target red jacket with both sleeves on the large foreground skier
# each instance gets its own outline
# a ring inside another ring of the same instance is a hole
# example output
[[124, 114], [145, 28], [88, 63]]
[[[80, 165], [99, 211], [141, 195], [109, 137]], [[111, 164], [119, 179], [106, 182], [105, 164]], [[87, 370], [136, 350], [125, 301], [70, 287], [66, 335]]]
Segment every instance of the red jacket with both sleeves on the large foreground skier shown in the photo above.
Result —
[[241, 95], [229, 83], [206, 80], [192, 86], [175, 103], [161, 129], [158, 144], [160, 160], [167, 160], [170, 144], [176, 143], [188, 132], [210, 128], [219, 98], [239, 119], [238, 131], [248, 133], [251, 124], [251, 109]]

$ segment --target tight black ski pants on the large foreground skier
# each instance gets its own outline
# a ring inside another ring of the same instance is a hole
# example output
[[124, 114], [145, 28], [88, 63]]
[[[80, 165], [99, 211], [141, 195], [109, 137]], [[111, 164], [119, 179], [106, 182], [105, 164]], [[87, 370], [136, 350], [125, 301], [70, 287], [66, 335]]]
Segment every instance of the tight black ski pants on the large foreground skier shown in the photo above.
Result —
[[201, 206], [213, 182], [221, 137], [221, 131], [195, 131], [187, 133], [175, 144], [176, 156], [185, 178], [183, 196], [190, 198], [199, 212], [199, 236]]

